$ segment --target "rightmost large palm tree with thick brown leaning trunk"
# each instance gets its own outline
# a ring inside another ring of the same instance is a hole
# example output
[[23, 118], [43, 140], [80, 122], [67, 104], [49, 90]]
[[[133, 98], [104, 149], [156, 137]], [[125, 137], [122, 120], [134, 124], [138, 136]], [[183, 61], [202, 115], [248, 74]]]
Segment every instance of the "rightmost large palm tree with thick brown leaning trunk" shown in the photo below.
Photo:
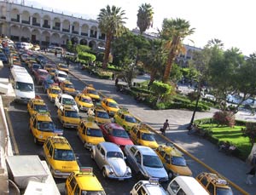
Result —
[[172, 71], [172, 63], [177, 54], [184, 52], [183, 39], [194, 33], [194, 28], [190, 29], [189, 21], [183, 19], [164, 19], [160, 37], [166, 40], [168, 49], [168, 59], [163, 77], [163, 83], [167, 83]]

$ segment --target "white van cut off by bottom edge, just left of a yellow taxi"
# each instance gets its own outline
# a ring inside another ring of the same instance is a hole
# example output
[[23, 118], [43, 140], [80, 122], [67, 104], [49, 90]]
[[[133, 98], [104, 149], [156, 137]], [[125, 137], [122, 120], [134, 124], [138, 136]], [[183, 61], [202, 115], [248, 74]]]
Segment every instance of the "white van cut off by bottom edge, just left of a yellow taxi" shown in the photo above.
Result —
[[194, 177], [177, 176], [167, 186], [171, 195], [209, 195]]

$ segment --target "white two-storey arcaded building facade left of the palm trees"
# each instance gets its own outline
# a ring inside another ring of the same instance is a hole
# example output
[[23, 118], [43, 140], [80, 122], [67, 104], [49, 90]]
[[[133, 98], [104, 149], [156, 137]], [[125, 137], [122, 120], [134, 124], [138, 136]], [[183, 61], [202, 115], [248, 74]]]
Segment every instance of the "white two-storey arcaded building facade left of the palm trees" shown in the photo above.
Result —
[[97, 20], [0, 1], [0, 35], [17, 42], [66, 45], [67, 40], [92, 49], [104, 48], [106, 36]]

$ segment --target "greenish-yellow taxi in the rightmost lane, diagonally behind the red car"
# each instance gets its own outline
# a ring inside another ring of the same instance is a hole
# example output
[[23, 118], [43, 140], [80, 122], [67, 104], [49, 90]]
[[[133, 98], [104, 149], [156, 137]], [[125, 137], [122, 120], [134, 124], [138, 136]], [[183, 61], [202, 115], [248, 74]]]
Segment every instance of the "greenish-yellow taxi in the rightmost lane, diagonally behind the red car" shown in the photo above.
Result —
[[121, 125], [128, 133], [133, 126], [138, 124], [137, 119], [126, 108], [119, 109], [113, 116], [113, 121]]

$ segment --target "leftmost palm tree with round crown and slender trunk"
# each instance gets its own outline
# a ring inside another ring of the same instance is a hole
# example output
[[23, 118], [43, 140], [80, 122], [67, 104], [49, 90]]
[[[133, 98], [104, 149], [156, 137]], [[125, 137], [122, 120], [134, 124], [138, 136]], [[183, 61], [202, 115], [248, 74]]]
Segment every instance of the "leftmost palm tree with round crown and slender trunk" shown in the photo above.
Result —
[[109, 5], [105, 9], [101, 9], [97, 20], [99, 21], [99, 28], [102, 33], [106, 34], [106, 46], [102, 67], [108, 67], [108, 56], [111, 49], [111, 42], [113, 37], [118, 37], [125, 30], [125, 11], [121, 8]]

